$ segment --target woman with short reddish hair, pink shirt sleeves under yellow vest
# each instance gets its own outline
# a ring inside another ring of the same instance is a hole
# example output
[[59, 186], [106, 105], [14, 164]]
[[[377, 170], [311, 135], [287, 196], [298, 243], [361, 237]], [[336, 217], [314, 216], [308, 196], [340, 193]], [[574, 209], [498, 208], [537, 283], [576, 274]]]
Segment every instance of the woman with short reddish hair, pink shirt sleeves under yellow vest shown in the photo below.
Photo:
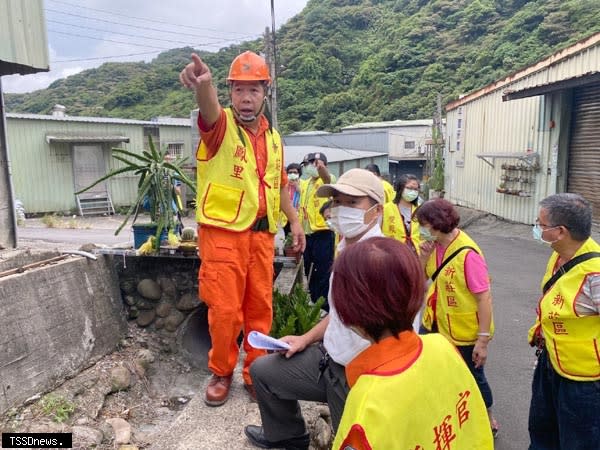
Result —
[[416, 216], [422, 240], [419, 258], [431, 280], [420, 332], [439, 332], [456, 345], [477, 381], [495, 437], [498, 422], [491, 412], [494, 400], [484, 372], [494, 320], [483, 253], [458, 228], [460, 216], [449, 201], [428, 200]]

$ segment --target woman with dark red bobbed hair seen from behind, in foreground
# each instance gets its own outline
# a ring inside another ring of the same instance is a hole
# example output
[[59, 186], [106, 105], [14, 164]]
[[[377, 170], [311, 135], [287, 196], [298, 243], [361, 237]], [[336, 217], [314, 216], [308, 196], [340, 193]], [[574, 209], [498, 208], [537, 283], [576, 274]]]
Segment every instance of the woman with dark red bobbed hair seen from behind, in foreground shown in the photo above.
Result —
[[347, 366], [351, 387], [334, 449], [492, 449], [485, 404], [460, 355], [439, 334], [417, 335], [423, 269], [405, 244], [374, 237], [334, 263], [334, 306], [372, 342]]

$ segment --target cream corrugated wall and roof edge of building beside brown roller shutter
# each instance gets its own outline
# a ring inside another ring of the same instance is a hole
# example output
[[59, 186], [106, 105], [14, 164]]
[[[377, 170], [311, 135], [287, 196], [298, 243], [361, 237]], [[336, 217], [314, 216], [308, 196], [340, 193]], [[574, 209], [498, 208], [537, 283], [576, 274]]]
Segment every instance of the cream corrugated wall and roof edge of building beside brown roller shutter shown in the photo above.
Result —
[[[563, 59], [555, 55], [553, 64], [527, 74], [518, 81], [497, 82], [498, 88], [483, 96], [458, 101], [447, 111], [447, 148], [445, 152], [446, 198], [522, 223], [533, 223], [538, 202], [555, 192], [563, 176], [561, 161], [568, 151], [568, 95], [562, 92], [503, 102], [504, 90], [521, 90], [600, 69], [600, 47], [594, 44]], [[527, 72], [525, 69], [523, 72]], [[518, 75], [518, 74], [517, 74]], [[518, 76], [513, 76], [518, 78]], [[467, 96], [468, 99], [469, 96]], [[462, 114], [461, 114], [462, 113]], [[461, 151], [456, 151], [457, 121], [462, 116]], [[501, 164], [511, 158], [487, 158], [491, 167], [477, 154], [539, 154], [540, 168], [532, 197], [499, 194]]]

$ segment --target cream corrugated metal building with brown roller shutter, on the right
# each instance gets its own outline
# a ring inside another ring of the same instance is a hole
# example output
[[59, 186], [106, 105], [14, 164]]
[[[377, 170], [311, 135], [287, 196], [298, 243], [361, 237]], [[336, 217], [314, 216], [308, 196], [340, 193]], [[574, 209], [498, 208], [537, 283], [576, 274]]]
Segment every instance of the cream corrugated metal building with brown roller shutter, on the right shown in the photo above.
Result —
[[600, 222], [600, 33], [446, 106], [446, 198], [533, 223], [558, 192]]

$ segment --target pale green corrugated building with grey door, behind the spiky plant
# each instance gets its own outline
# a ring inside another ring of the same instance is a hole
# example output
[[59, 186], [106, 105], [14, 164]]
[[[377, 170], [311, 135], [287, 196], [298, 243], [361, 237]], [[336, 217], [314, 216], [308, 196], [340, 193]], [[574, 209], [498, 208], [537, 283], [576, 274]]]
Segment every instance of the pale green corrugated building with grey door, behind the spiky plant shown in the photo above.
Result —
[[[28, 213], [77, 211], [74, 192], [120, 167], [111, 148], [141, 153], [148, 136], [175, 156], [192, 155], [189, 119], [152, 121], [101, 117], [71, 117], [57, 105], [53, 115], [7, 114], [15, 197]], [[109, 195], [115, 206], [129, 205], [138, 177], [111, 178], [90, 196], [102, 202]], [[99, 204], [99, 203], [98, 203]]]

